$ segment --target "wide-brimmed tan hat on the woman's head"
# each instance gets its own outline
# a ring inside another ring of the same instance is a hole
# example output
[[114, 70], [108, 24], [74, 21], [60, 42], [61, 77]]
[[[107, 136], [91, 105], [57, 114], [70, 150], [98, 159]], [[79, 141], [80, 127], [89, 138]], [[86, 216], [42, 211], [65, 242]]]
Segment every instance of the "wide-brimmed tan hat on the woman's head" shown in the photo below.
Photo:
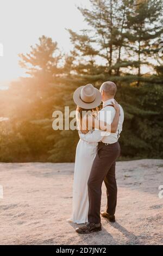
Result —
[[87, 84], [74, 91], [73, 100], [80, 108], [94, 109], [101, 104], [102, 95], [93, 85]]

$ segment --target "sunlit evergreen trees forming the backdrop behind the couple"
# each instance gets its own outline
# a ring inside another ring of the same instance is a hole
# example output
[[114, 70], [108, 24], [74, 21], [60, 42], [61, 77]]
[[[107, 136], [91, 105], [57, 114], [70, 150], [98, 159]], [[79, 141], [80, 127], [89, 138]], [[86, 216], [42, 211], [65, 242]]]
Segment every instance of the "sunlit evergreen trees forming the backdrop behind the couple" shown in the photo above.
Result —
[[78, 132], [54, 131], [53, 111], [64, 113], [69, 106], [71, 112], [78, 86], [99, 88], [104, 81], [117, 84], [116, 100], [124, 109], [122, 158], [162, 158], [162, 1], [90, 2], [91, 9], [79, 7], [89, 28], [68, 29], [69, 55], [44, 35], [29, 53], [20, 54], [29, 78], [0, 93], [0, 116], [10, 118], [7, 128], [0, 122], [1, 161], [73, 162]]

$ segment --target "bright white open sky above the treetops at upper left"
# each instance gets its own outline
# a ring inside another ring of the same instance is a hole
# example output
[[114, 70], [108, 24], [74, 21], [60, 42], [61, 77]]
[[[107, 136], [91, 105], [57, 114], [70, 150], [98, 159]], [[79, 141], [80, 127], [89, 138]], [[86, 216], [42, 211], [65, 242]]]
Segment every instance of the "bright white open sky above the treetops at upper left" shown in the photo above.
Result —
[[65, 28], [85, 28], [77, 5], [89, 7], [89, 0], [1, 0], [0, 2], [0, 86], [24, 74], [18, 53], [26, 53], [41, 35], [58, 41], [66, 52], [71, 49]]

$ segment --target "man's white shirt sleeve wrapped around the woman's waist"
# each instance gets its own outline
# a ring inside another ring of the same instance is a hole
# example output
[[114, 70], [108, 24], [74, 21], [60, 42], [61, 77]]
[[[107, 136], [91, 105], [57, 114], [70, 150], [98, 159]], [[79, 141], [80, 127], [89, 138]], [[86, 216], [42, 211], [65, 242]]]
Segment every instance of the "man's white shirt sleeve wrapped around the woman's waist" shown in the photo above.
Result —
[[103, 139], [104, 135], [101, 130], [92, 130], [87, 134], [83, 134], [79, 131], [79, 137], [81, 140], [85, 140], [87, 142], [99, 142]]

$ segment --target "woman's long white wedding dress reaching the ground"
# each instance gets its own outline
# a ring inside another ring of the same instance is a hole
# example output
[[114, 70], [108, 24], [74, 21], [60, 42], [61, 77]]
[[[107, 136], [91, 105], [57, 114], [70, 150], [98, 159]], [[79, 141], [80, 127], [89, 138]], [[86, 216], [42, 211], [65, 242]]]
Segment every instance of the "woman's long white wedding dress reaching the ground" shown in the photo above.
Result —
[[[85, 115], [86, 116], [86, 115]], [[83, 118], [85, 118], [85, 116]], [[80, 136], [79, 132], [79, 136]], [[87, 181], [90, 176], [93, 160], [96, 157], [98, 141], [101, 140], [99, 130], [91, 130], [90, 142], [79, 140], [76, 149], [73, 181], [73, 209], [71, 221], [74, 223], [86, 223], [89, 210], [89, 198]]]

